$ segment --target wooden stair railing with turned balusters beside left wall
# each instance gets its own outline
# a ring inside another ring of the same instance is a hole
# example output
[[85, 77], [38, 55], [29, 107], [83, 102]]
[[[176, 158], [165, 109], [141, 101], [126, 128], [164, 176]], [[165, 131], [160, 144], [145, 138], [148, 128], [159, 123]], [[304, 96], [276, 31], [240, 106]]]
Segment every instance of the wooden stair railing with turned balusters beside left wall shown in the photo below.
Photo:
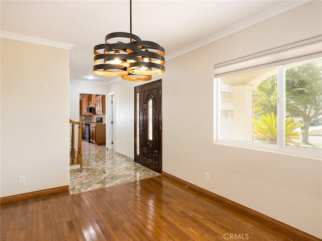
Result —
[[[82, 122], [74, 122], [69, 119], [69, 124], [71, 124], [71, 149], [69, 157], [69, 165], [79, 165], [79, 169], [82, 172]], [[74, 126], [78, 125], [78, 148], [77, 148], [77, 158], [75, 156], [75, 135]]]

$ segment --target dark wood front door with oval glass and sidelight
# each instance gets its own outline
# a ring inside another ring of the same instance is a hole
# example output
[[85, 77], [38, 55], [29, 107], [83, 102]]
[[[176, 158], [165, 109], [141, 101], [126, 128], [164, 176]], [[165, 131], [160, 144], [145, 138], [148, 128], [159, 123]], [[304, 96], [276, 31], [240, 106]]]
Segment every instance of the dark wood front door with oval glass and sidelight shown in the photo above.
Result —
[[134, 161], [162, 172], [162, 81], [134, 88]]

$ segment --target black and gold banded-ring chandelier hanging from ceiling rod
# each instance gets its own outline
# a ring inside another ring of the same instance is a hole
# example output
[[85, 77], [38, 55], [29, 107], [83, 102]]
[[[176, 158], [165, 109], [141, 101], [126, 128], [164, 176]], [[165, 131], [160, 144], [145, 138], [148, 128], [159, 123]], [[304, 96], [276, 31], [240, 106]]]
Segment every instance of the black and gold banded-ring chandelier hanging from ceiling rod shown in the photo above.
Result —
[[132, 0], [130, 0], [130, 33], [106, 35], [105, 44], [94, 47], [95, 74], [130, 81], [147, 81], [151, 75], [163, 74], [165, 49], [157, 43], [142, 41], [132, 34]]

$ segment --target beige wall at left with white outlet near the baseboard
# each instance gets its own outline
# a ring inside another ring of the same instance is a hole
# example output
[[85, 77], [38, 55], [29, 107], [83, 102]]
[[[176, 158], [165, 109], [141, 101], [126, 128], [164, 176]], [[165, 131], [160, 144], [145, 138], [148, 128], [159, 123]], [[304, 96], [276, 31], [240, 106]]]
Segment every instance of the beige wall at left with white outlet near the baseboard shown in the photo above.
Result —
[[1, 197], [69, 183], [68, 54], [1, 39]]

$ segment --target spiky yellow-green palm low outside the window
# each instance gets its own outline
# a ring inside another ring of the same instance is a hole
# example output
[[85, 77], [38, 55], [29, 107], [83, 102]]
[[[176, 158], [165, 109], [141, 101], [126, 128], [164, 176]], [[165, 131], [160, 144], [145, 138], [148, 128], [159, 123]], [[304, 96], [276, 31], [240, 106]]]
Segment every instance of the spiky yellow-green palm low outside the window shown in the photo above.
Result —
[[[292, 139], [300, 137], [296, 129], [303, 126], [303, 124], [293, 123], [293, 121], [294, 117], [289, 117], [285, 120], [285, 144], [293, 144], [299, 147], [299, 144], [292, 141]], [[274, 112], [263, 114], [258, 120], [253, 118], [253, 125], [254, 136], [257, 140], [263, 143], [277, 144], [277, 116], [275, 116]]]

